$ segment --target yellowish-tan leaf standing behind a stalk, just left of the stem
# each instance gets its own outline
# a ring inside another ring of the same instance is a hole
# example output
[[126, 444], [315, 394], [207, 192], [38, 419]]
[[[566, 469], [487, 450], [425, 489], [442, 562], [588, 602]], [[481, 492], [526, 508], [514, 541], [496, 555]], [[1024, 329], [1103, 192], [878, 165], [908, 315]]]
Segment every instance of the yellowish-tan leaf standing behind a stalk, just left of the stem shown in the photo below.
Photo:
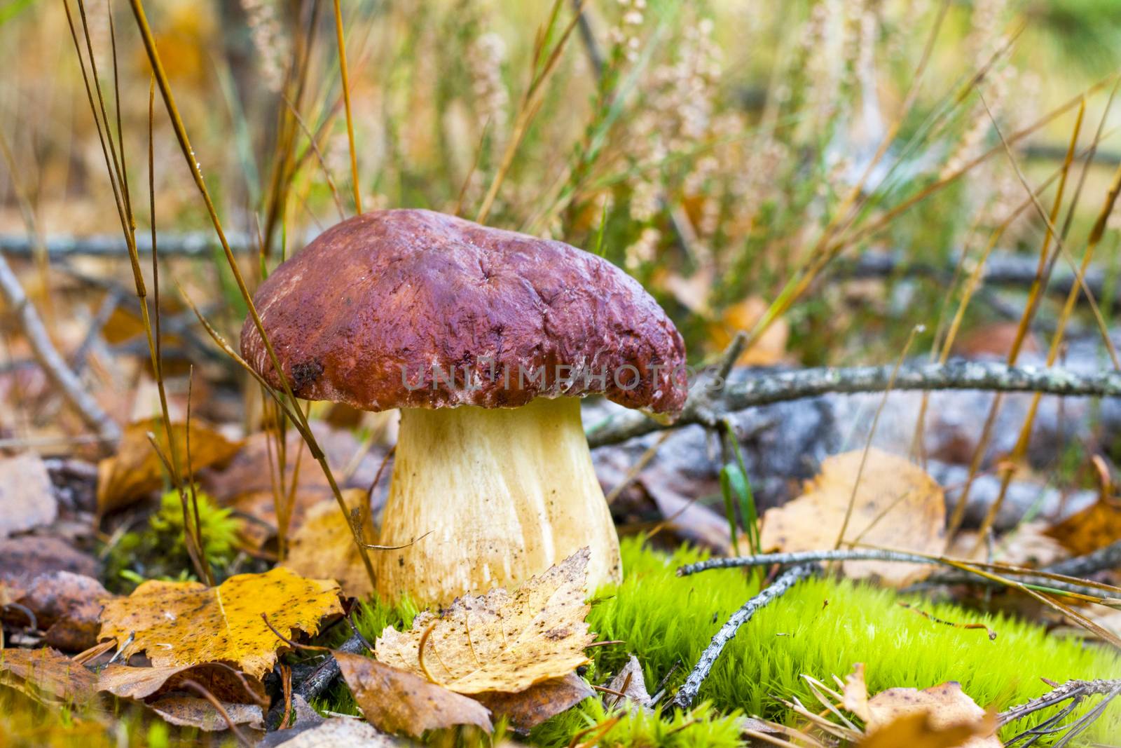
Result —
[[[374, 543], [377, 535], [370, 518], [368, 493], [362, 489], [348, 489], [343, 491], [343, 499], [352, 511], [358, 511], [367, 543]], [[319, 501], [304, 515], [304, 521], [288, 542], [284, 565], [309, 579], [333, 579], [343, 593], [352, 598], [368, 598], [373, 592], [370, 575], [354, 545], [350, 520], [339, 510], [334, 499]]]

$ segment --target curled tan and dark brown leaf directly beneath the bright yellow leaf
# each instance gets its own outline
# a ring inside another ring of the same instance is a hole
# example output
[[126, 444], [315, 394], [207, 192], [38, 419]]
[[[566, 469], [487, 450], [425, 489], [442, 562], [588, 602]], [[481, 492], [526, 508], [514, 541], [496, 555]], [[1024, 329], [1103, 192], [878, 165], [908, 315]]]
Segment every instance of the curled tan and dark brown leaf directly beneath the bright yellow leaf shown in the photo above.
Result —
[[254, 677], [238, 677], [234, 671], [217, 664], [129, 667], [109, 665], [98, 675], [98, 690], [121, 699], [143, 701], [178, 690], [184, 681], [194, 681], [219, 701], [260, 702], [265, 686]]

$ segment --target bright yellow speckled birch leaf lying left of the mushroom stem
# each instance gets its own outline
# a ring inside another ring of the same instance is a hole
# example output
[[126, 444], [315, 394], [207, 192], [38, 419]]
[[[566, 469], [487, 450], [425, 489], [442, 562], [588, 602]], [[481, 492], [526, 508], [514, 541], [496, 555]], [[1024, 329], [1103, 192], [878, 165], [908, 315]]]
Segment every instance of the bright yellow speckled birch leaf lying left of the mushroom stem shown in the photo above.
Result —
[[123, 643], [135, 636], [122, 656], [147, 652], [156, 667], [224, 662], [259, 678], [284, 646], [261, 613], [285, 636], [296, 630], [314, 635], [325, 616], [342, 613], [339, 585], [282, 567], [238, 574], [210, 589], [197, 582], [148, 581], [129, 597], [105, 603], [100, 638]]

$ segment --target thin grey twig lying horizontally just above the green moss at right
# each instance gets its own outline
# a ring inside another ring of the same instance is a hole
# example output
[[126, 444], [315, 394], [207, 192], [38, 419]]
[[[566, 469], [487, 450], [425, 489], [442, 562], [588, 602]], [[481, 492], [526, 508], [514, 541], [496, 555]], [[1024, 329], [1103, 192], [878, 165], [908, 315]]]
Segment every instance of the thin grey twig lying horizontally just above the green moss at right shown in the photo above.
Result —
[[[1121, 545], [1121, 542], [1118, 543]], [[961, 564], [969, 564], [971, 562], [956, 558], [942, 558], [938, 556], [925, 556], [918, 553], [907, 553], [904, 551], [882, 551], [879, 548], [852, 548], [847, 551], [794, 551], [790, 553], [761, 553], [754, 556], [730, 556], [722, 558], [708, 558], [707, 561], [698, 561], [694, 564], [687, 564], [677, 570], [678, 576], [688, 576], [691, 574], [696, 574], [697, 572], [708, 571], [711, 569], [741, 569], [745, 566], [770, 566], [772, 564], [786, 565], [786, 564], [807, 564], [807, 563], [818, 563], [826, 561], [889, 561], [906, 564], [941, 564], [943, 566], [949, 566], [951, 569], [960, 570]], [[1049, 590], [1058, 590], [1062, 592], [1067, 592], [1071, 594], [1081, 594], [1091, 598], [1102, 599], [1102, 590], [1094, 588], [1088, 584], [1078, 584], [1076, 582], [1050, 579], [1045, 576], [1032, 576], [1027, 573], [1028, 570], [1018, 572], [1012, 569], [1000, 569], [1002, 573], [1012, 575], [1016, 581], [1025, 584], [1027, 587], [1040, 587]], [[1057, 571], [1056, 567], [1048, 567], [1041, 571], [1055, 574], [1066, 574], [1065, 572]], [[1021, 575], [1027, 573], [1027, 575]], [[947, 581], [948, 580], [948, 581]], [[981, 576], [979, 574], [961, 573], [954, 575], [942, 575], [934, 578], [932, 576], [927, 580], [928, 583], [937, 584], [985, 584], [999, 587], [1000, 584], [992, 579]]]

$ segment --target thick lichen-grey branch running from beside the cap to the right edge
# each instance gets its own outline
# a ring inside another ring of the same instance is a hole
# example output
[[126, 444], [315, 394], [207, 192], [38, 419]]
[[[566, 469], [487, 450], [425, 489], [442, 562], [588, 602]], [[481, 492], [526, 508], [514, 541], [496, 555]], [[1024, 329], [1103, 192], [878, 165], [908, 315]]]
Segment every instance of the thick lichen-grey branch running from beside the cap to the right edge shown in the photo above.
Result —
[[[682, 415], [660, 423], [637, 410], [620, 413], [593, 428], [592, 446], [617, 444], [664, 428], [701, 424], [715, 428], [736, 410], [818, 397], [828, 394], [881, 393], [895, 366], [800, 369], [752, 373], [745, 381], [710, 388], [701, 382], [689, 393]], [[1121, 396], [1121, 373], [1077, 373], [1062, 368], [1009, 367], [1003, 363], [954, 361], [907, 364], [899, 369], [893, 390], [983, 389], [1000, 393], [1043, 393], [1074, 397]]]

